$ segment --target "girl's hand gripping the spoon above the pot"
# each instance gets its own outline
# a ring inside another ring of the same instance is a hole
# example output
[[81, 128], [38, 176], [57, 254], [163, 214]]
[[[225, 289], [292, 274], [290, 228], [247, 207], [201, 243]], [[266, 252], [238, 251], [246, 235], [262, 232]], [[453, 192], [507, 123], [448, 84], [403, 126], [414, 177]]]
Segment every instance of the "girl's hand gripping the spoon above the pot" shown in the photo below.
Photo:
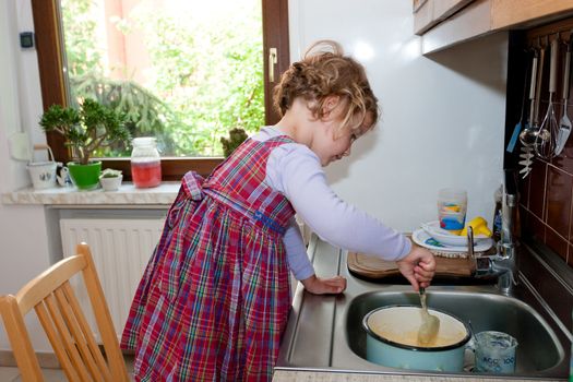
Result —
[[399, 272], [410, 282], [414, 290], [430, 286], [435, 273], [435, 259], [426, 248], [413, 244], [410, 253], [396, 262]]

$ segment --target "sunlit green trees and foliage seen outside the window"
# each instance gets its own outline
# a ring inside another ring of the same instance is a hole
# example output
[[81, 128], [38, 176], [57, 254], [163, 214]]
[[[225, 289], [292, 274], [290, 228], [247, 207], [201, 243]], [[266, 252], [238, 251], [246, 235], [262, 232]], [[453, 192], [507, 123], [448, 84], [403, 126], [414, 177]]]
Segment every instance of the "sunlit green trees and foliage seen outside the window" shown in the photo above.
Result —
[[71, 102], [89, 97], [123, 112], [132, 136], [156, 136], [164, 156], [222, 156], [220, 138], [231, 129], [250, 134], [264, 123], [264, 88], [260, 0], [220, 1], [217, 17], [205, 16], [213, 12], [204, 2], [181, 0], [172, 12], [142, 0], [110, 20], [124, 36], [142, 33], [152, 65], [140, 84], [127, 68], [122, 79], [107, 74], [118, 68], [106, 68], [97, 45], [103, 1], [61, 0]]

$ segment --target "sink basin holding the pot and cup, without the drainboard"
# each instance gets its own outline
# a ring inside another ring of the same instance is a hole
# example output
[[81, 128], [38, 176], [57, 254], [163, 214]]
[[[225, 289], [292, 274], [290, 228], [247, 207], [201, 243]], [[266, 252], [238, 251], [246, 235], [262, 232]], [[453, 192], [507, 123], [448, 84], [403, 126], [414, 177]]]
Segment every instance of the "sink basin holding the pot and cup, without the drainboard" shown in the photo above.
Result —
[[[551, 369], [563, 360], [563, 347], [549, 324], [527, 303], [516, 298], [486, 293], [440, 290], [427, 294], [428, 306], [470, 323], [474, 334], [498, 331], [511, 334], [518, 342], [517, 374], [532, 374]], [[415, 293], [367, 293], [355, 297], [346, 311], [346, 342], [350, 349], [366, 359], [367, 334], [361, 327], [371, 310], [393, 305], [420, 305]], [[470, 357], [468, 357], [470, 358]], [[466, 370], [471, 371], [471, 361]]]

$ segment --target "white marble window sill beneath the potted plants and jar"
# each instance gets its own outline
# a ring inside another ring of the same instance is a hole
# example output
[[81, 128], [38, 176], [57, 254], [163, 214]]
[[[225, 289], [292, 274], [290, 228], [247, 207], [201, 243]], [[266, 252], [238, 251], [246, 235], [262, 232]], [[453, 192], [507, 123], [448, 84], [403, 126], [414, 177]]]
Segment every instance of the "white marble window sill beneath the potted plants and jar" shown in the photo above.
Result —
[[169, 206], [177, 196], [181, 182], [163, 182], [158, 187], [138, 189], [123, 182], [118, 191], [77, 191], [73, 187], [47, 190], [23, 189], [1, 194], [3, 204], [44, 204], [55, 206]]

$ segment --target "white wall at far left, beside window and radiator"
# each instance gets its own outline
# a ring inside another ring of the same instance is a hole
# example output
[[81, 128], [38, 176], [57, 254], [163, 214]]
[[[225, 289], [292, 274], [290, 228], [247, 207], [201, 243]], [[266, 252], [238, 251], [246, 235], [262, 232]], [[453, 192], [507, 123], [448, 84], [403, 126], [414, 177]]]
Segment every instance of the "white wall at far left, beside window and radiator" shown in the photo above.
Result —
[[[32, 31], [32, 24], [29, 0], [0, 1], [0, 193], [29, 184], [26, 163], [10, 157], [9, 138], [25, 131], [36, 142], [44, 139], [37, 127], [41, 96], [36, 53], [19, 45], [19, 33]], [[0, 294], [15, 293], [49, 266], [44, 207], [0, 204]], [[39, 330], [32, 337], [38, 350], [49, 349]], [[9, 347], [2, 329], [0, 350]]]

